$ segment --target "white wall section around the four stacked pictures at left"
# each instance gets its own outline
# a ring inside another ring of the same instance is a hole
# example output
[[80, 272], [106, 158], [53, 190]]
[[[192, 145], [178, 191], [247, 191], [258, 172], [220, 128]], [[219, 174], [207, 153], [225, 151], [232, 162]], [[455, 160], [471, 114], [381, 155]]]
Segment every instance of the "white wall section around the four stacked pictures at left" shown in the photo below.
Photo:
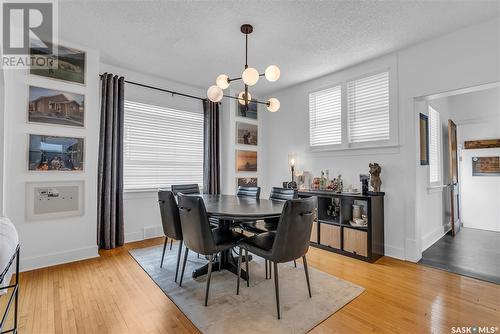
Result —
[[[73, 43], [61, 44], [87, 52], [86, 85], [69, 84], [28, 75], [27, 71], [5, 72], [5, 213], [15, 224], [21, 243], [22, 270], [45, 267], [98, 256], [97, 147], [99, 131], [99, 53]], [[29, 84], [85, 94], [85, 128], [27, 123]], [[85, 137], [84, 172], [28, 172], [28, 134]], [[26, 221], [26, 182], [85, 181], [85, 214], [47, 221]]]

